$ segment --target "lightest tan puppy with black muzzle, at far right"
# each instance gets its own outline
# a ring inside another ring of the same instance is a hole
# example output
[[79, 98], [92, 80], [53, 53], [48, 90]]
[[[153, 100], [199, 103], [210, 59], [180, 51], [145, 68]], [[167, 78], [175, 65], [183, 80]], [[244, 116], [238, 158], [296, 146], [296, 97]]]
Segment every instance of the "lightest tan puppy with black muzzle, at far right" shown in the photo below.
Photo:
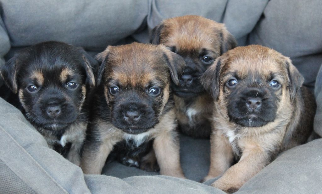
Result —
[[218, 57], [201, 80], [214, 98], [211, 166], [205, 178], [223, 174], [214, 187], [238, 190], [312, 132], [314, 97], [291, 60], [273, 49], [234, 48]]

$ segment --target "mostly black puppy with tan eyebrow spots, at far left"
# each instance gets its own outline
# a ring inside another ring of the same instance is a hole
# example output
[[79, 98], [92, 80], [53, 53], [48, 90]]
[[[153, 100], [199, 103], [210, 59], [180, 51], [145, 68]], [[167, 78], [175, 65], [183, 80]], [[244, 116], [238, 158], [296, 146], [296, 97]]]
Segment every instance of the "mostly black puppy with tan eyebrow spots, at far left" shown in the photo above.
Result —
[[86, 96], [98, 67], [82, 48], [50, 41], [18, 51], [1, 69], [16, 106], [49, 147], [76, 165], [88, 122]]

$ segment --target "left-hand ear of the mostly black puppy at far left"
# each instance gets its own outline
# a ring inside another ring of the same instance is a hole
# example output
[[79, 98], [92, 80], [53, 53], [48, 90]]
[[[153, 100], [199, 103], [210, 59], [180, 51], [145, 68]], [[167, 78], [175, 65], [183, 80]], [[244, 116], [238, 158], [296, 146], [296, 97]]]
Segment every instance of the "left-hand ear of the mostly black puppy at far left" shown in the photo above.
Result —
[[17, 75], [20, 69], [18, 54], [9, 59], [0, 69], [0, 77], [5, 81], [5, 85], [12, 90], [13, 93], [18, 92]]

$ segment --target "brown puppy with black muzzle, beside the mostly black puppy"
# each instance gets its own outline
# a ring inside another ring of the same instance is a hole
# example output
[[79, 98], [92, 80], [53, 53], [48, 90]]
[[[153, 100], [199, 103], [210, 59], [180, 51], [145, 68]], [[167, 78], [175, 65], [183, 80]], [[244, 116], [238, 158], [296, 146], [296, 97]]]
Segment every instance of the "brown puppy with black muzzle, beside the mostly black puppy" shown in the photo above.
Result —
[[150, 140], [163, 175], [182, 177], [170, 80], [178, 83], [182, 57], [164, 46], [132, 43], [109, 46], [96, 57], [102, 64], [93, 120], [81, 166], [100, 174], [117, 143], [139, 147]]

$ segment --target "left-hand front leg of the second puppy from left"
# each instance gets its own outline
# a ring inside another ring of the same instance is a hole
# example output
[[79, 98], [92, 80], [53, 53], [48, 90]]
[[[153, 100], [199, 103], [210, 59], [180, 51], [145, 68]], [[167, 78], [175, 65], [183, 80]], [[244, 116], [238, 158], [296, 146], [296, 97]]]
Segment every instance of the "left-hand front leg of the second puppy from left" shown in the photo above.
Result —
[[100, 174], [114, 145], [111, 141], [86, 142], [81, 160], [84, 174]]

